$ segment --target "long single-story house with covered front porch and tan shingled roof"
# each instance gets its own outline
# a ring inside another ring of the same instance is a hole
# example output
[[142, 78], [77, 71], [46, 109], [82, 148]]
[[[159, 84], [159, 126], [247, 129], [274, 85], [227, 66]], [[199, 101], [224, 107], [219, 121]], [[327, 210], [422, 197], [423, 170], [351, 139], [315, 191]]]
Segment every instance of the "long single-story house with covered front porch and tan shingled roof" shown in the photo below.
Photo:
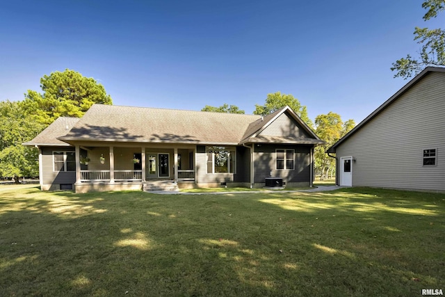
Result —
[[323, 143], [286, 106], [242, 115], [95, 104], [58, 118], [25, 145], [40, 150], [42, 190], [262, 187], [266, 177], [312, 186], [314, 147]]

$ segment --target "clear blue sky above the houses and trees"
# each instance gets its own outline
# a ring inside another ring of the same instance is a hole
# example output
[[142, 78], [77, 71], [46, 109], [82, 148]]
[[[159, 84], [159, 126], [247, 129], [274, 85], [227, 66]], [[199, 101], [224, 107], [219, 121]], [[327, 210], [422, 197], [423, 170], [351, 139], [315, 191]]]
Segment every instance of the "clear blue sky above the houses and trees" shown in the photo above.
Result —
[[252, 113], [281, 91], [312, 120], [358, 123], [407, 83], [389, 67], [419, 51], [414, 26], [443, 27], [423, 22], [422, 2], [3, 1], [0, 100], [70, 68], [115, 105]]

